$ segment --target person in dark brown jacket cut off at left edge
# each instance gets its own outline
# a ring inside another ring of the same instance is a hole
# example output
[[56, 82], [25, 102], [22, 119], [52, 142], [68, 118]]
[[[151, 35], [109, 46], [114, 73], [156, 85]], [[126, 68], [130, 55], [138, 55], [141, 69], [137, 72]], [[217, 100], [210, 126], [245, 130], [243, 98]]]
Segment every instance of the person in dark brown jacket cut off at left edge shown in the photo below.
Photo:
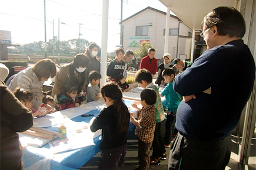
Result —
[[28, 130], [33, 125], [32, 111], [26, 108], [0, 80], [1, 106], [1, 169], [22, 169], [22, 149], [16, 132]]

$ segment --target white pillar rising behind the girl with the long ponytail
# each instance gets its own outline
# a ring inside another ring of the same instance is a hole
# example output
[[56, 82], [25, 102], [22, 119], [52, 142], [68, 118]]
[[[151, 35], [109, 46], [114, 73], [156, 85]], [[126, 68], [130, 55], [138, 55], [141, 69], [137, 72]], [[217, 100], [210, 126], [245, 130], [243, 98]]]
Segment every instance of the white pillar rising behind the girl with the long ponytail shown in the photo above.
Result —
[[102, 0], [102, 33], [101, 33], [101, 87], [107, 80], [107, 49], [108, 49], [108, 3]]

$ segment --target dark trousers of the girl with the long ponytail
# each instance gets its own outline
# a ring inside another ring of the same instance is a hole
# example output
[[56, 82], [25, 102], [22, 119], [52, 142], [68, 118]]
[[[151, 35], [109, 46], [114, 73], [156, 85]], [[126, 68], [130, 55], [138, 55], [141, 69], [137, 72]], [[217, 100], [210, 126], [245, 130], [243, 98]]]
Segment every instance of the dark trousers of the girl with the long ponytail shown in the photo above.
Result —
[[124, 166], [124, 159], [126, 154], [127, 144], [121, 145], [117, 148], [102, 149], [99, 169], [115, 170], [118, 167], [120, 168]]

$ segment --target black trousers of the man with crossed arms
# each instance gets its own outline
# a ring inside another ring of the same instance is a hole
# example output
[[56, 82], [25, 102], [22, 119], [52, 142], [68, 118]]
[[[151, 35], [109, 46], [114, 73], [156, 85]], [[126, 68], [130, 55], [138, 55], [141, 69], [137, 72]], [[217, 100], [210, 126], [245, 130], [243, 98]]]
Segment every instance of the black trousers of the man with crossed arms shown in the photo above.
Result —
[[200, 141], [178, 132], [169, 152], [168, 169], [224, 170], [230, 161], [230, 154], [230, 135], [218, 141]]

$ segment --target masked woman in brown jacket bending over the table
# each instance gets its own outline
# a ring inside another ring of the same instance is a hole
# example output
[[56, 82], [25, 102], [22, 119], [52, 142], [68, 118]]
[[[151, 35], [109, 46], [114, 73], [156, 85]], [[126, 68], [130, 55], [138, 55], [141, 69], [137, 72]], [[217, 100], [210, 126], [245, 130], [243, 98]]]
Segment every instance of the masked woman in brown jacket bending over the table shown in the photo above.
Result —
[[[61, 94], [65, 89], [68, 81], [77, 83], [78, 94], [86, 91], [88, 79], [88, 66], [90, 64], [89, 57], [84, 54], [78, 54], [74, 57], [73, 62], [66, 64], [58, 70], [55, 77], [54, 88], [52, 89], [52, 96]], [[85, 96], [85, 93], [81, 94]]]

